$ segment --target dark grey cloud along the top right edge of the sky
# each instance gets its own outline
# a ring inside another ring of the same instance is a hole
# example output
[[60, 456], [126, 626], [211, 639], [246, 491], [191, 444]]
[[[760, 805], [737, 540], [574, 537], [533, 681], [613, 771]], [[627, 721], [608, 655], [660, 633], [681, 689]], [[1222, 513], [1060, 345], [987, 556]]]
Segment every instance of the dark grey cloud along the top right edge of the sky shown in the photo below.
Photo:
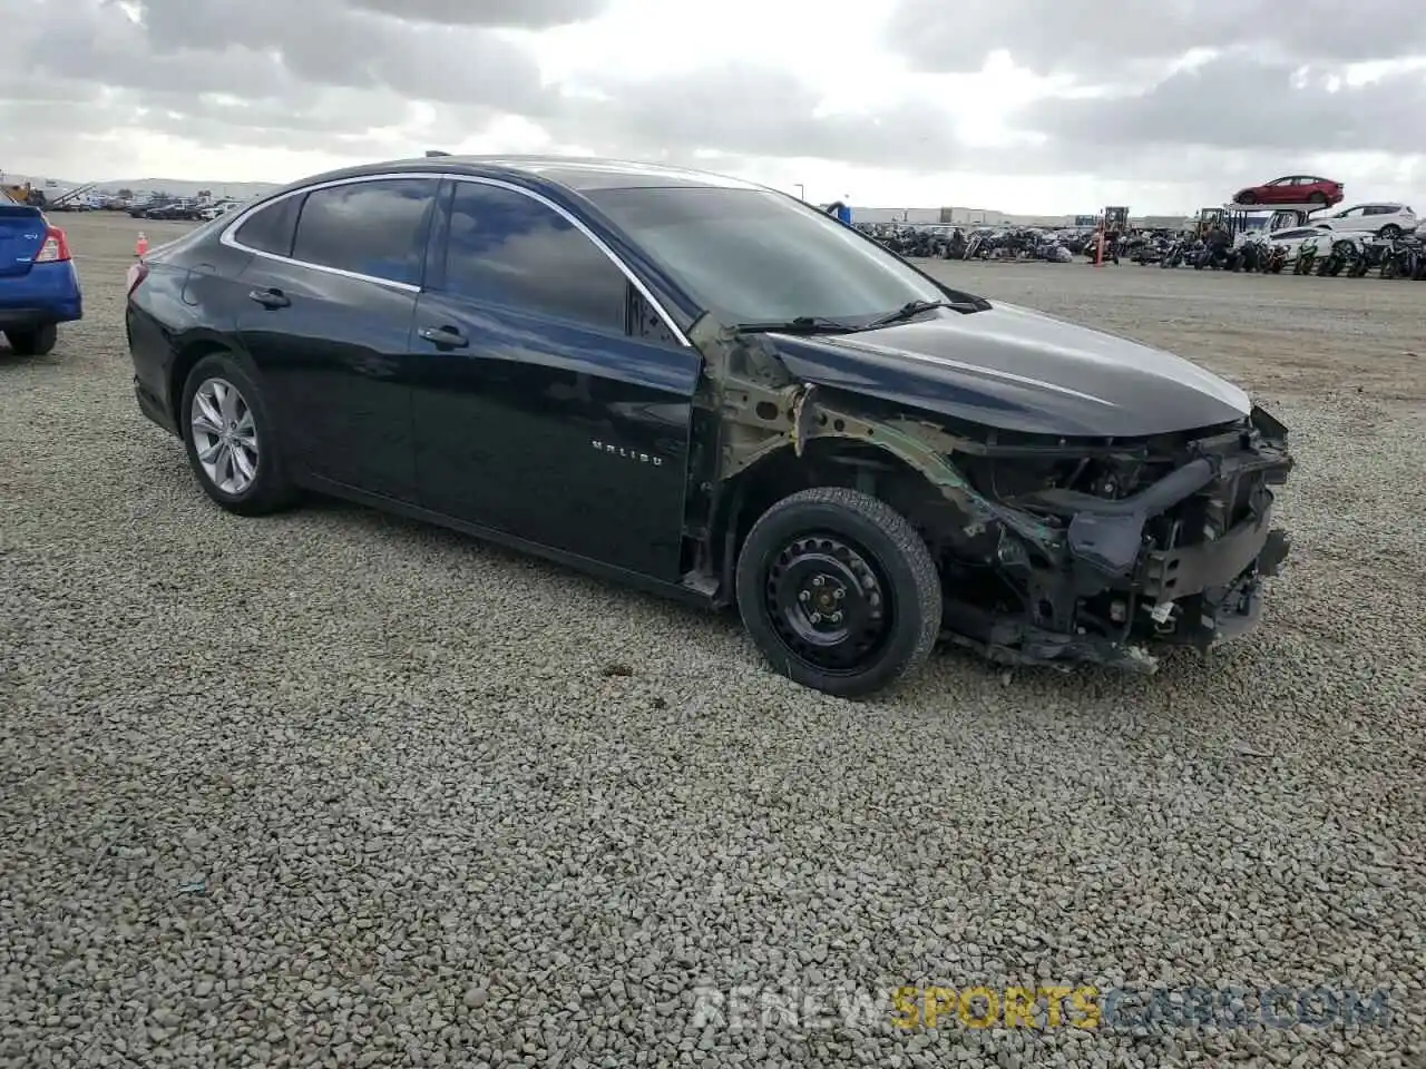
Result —
[[900, 0], [887, 41], [927, 71], [975, 71], [1004, 48], [1041, 73], [1102, 81], [1192, 48], [1252, 47], [1281, 61], [1426, 53], [1422, 0]]

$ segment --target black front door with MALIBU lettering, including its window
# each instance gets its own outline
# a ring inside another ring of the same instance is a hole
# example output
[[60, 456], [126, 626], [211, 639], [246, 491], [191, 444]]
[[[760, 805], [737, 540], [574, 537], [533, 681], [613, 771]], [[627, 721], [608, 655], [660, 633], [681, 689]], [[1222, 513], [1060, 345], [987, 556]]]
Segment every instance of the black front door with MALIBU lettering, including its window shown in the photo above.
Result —
[[432, 242], [412, 342], [422, 502], [676, 580], [700, 356], [635, 326], [623, 271], [513, 187], [449, 181]]

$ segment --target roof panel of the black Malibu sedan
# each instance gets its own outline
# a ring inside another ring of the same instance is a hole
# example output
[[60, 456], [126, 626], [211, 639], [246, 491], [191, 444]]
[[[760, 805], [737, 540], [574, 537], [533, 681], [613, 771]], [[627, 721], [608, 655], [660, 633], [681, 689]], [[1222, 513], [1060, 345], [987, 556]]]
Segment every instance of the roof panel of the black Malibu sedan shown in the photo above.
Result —
[[595, 190], [627, 190], [655, 187], [760, 190], [754, 182], [729, 178], [706, 171], [682, 167], [635, 162], [630, 160], [605, 160], [576, 155], [436, 155], [411, 160], [388, 160], [359, 167], [347, 167], [321, 175], [311, 175], [291, 182], [285, 188], [297, 188], [318, 181], [338, 178], [361, 178], [368, 174], [392, 174], [399, 171], [424, 171], [438, 174], [473, 174], [486, 178], [523, 178], [535, 182], [563, 185], [575, 192]]

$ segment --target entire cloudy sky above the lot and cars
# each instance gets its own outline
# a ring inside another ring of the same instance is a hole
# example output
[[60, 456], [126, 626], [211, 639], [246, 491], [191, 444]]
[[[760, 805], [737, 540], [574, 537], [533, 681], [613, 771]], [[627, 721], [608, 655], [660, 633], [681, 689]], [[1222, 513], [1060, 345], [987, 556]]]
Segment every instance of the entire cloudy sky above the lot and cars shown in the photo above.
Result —
[[439, 147], [884, 207], [1192, 211], [1316, 172], [1426, 208], [1423, 7], [0, 0], [0, 168], [288, 181]]

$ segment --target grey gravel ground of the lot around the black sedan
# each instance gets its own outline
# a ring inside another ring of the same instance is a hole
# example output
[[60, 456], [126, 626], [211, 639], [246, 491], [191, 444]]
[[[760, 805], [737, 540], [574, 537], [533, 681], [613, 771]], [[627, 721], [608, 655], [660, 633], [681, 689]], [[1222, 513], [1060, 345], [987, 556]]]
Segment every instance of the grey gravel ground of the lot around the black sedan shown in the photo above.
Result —
[[[0, 352], [0, 1065], [1426, 1060], [1426, 286], [937, 265], [1261, 395], [1295, 556], [1211, 660], [944, 653], [854, 706], [733, 620], [455, 534], [221, 513], [134, 406], [137, 225], [64, 224], [88, 318]], [[1390, 1018], [697, 1012], [903, 983], [1386, 989]]]

